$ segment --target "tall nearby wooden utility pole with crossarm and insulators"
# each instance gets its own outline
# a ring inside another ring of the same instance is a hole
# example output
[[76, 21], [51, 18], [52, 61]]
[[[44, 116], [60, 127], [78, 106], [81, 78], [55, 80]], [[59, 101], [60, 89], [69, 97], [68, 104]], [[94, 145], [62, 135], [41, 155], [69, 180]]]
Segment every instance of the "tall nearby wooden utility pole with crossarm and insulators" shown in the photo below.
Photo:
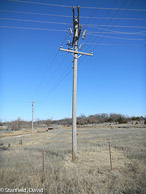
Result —
[[[78, 16], [77, 19], [75, 19], [75, 7], [73, 6], [73, 28], [74, 28], [74, 36], [72, 44], [70, 41], [68, 42], [69, 49], [63, 49], [63, 47], [60, 47], [60, 51], [66, 51], [71, 53], [74, 56], [74, 66], [73, 66], [73, 104], [72, 104], [72, 161], [76, 159], [77, 156], [77, 135], [76, 135], [76, 99], [77, 99], [77, 60], [81, 55], [88, 55], [93, 56], [91, 53], [84, 53], [78, 51], [78, 41], [81, 34], [81, 28], [82, 26], [79, 25], [79, 11], [80, 7], [77, 7]], [[69, 28], [70, 34], [72, 34], [72, 29]], [[86, 36], [86, 31], [83, 32], [82, 39]], [[74, 50], [72, 50], [74, 46]], [[78, 56], [78, 54], [80, 54]]]

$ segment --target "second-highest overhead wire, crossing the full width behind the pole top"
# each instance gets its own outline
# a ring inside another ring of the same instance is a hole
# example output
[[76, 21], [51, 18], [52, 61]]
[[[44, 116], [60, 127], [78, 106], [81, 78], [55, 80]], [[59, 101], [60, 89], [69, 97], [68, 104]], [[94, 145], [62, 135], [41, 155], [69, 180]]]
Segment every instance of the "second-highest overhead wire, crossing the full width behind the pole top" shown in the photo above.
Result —
[[[72, 16], [68, 15], [57, 15], [57, 14], [48, 14], [48, 13], [34, 13], [34, 12], [25, 12], [25, 11], [13, 11], [13, 10], [0, 10], [0, 12], [8, 12], [8, 13], [22, 13], [22, 14], [31, 14], [31, 15], [44, 15], [44, 16], [53, 16], [53, 17], [65, 17], [72, 18]], [[111, 17], [88, 17], [88, 16], [80, 16], [82, 19], [105, 19], [109, 20]], [[146, 20], [146, 18], [112, 18], [113, 20]]]

